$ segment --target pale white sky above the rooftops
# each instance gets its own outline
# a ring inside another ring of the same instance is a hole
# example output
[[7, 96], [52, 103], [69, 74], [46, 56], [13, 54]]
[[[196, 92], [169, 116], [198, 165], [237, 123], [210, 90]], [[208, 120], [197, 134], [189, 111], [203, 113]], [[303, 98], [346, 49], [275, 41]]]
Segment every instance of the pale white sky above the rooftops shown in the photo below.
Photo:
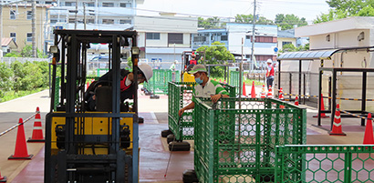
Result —
[[[327, 13], [326, 0], [256, 0], [256, 14], [275, 20], [277, 14], [305, 17], [311, 24], [317, 15]], [[252, 15], [254, 0], [144, 0], [138, 4], [138, 15], [158, 15], [171, 12], [179, 15], [234, 17]]]

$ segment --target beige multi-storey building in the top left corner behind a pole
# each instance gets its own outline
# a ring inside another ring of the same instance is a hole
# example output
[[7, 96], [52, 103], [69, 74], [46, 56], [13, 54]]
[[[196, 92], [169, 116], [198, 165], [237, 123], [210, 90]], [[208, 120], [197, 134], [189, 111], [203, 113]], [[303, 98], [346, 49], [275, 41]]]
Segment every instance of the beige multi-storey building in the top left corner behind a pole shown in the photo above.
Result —
[[[47, 25], [47, 5], [36, 5], [36, 48], [44, 49], [44, 32]], [[21, 51], [24, 46], [32, 45], [31, 4], [6, 5], [3, 7], [3, 35], [11, 37]]]

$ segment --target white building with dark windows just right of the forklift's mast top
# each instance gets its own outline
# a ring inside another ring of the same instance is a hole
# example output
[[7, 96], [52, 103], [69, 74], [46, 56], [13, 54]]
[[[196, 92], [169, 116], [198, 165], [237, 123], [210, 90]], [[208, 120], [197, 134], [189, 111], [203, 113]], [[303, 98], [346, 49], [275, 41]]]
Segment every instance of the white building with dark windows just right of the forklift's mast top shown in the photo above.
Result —
[[160, 62], [181, 62], [182, 52], [192, 51], [191, 35], [197, 33], [197, 17], [135, 16], [134, 30], [139, 32], [140, 58], [154, 66]]

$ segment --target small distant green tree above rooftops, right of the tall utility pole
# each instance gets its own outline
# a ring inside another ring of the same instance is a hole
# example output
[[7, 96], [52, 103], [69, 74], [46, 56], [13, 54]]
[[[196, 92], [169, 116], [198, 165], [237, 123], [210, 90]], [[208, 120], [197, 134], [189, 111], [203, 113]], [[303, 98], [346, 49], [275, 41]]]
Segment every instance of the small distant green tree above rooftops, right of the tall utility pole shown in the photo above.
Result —
[[307, 25], [306, 18], [299, 18], [296, 15], [275, 15], [275, 24], [282, 28], [282, 30], [288, 30], [294, 28], [294, 25], [304, 26]]

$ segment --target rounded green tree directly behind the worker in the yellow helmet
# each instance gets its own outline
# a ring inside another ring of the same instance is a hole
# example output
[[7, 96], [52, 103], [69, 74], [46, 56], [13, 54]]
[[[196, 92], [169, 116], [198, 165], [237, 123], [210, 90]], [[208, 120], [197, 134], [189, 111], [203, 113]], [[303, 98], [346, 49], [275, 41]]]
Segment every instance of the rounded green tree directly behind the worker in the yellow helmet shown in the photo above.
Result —
[[[224, 43], [214, 42], [212, 46], [202, 46], [196, 51], [205, 51], [205, 62], [209, 65], [226, 64], [228, 60], [235, 61], [234, 55], [227, 50]], [[211, 76], [223, 76], [223, 67], [214, 66], [210, 69]]]

